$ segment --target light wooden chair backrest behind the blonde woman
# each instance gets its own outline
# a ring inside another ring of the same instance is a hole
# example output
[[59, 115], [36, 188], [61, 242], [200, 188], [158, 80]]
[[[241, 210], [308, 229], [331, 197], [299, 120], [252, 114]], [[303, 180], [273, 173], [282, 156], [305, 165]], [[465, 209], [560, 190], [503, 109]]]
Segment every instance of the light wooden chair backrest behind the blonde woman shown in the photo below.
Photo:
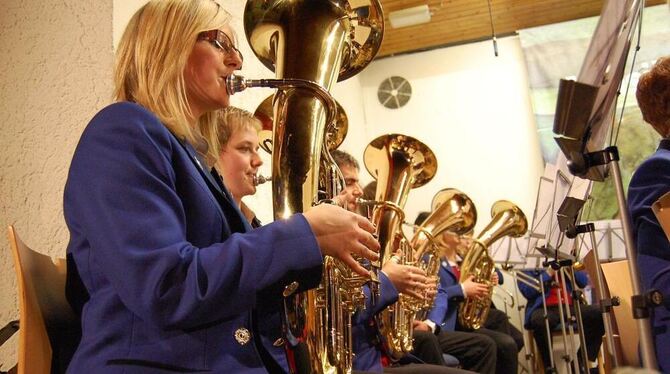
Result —
[[65, 299], [66, 261], [30, 249], [8, 228], [19, 299], [18, 373], [51, 373], [49, 327], [74, 321]]

